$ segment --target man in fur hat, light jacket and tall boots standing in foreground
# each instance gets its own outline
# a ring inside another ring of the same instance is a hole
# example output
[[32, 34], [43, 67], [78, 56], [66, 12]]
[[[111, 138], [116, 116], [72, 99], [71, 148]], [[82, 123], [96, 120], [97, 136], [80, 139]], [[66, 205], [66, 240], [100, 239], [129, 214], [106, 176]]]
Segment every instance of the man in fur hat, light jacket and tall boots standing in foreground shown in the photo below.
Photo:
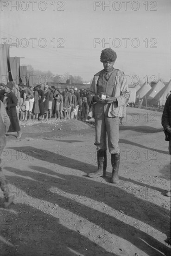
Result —
[[102, 50], [101, 62], [104, 69], [94, 75], [89, 89], [89, 101], [94, 105], [95, 146], [97, 147], [98, 162], [97, 171], [89, 173], [89, 177], [106, 176], [106, 137], [108, 135], [108, 148], [112, 164], [111, 183], [119, 182], [119, 117], [122, 116], [122, 106], [127, 103], [130, 96], [124, 73], [113, 67], [116, 58], [117, 55], [111, 48]]

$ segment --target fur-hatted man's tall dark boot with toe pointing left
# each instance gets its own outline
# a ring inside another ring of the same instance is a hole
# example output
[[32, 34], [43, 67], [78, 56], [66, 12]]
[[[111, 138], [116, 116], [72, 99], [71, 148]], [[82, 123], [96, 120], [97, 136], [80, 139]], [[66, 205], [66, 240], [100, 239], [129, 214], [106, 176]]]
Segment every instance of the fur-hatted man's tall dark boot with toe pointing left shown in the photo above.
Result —
[[98, 169], [96, 172], [89, 173], [88, 176], [90, 178], [97, 178], [100, 176], [103, 176], [104, 173], [106, 175], [106, 170], [104, 172], [104, 162], [105, 162], [105, 151], [104, 150], [98, 150], [97, 151], [97, 165]]

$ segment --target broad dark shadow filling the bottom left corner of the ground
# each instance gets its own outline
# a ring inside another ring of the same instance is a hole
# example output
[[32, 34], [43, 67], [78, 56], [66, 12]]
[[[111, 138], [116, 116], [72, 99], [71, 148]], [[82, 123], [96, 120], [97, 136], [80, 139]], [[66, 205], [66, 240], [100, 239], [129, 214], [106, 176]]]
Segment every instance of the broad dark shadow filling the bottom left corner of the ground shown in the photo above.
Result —
[[[11, 208], [15, 214], [0, 209], [5, 218], [1, 222], [1, 256], [117, 256], [39, 209], [26, 204]], [[9, 239], [14, 241], [11, 246]]]

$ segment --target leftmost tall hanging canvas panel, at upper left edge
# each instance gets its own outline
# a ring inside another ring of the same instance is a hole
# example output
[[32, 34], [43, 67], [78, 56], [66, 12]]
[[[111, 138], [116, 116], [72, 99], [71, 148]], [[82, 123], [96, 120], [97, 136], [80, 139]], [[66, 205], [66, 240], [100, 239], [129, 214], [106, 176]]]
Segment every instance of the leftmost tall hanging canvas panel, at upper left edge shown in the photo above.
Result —
[[9, 47], [8, 44], [0, 44], [0, 82], [4, 84], [9, 81]]

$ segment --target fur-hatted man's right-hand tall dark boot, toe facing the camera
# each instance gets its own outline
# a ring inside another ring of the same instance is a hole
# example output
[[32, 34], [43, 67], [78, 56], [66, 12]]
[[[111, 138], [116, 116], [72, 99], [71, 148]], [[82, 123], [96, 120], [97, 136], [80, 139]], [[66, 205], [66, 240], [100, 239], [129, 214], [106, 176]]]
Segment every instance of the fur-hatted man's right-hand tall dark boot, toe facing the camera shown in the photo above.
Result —
[[119, 183], [118, 171], [120, 166], [120, 154], [115, 153], [111, 155], [112, 164], [112, 178], [111, 183]]

